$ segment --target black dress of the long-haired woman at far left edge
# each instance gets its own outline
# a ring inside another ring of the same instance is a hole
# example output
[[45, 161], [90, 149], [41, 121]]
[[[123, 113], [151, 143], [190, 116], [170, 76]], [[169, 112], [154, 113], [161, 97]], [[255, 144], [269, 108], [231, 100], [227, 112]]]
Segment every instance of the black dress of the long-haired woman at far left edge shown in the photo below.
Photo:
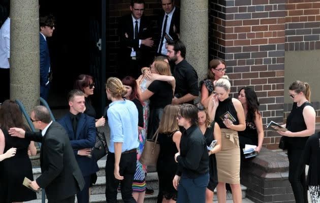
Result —
[[34, 180], [32, 165], [28, 156], [29, 140], [11, 137], [6, 129], [2, 128], [5, 135], [6, 146], [4, 153], [10, 148], [17, 148], [16, 155], [3, 160], [1, 163], [1, 186], [0, 192], [3, 195], [2, 202], [29, 201], [37, 199], [34, 191], [22, 185], [24, 177]]

